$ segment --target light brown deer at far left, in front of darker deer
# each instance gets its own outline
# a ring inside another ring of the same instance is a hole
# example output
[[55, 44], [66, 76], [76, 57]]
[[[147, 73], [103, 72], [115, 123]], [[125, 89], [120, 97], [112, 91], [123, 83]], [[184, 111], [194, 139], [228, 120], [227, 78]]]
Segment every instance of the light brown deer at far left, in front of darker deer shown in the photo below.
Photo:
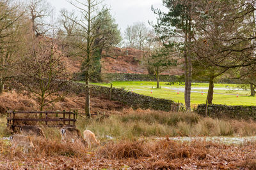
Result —
[[10, 139], [12, 142], [12, 148], [17, 148], [18, 146], [20, 146], [23, 148], [23, 152], [28, 153], [29, 149], [35, 148], [31, 139], [28, 136], [13, 134]]

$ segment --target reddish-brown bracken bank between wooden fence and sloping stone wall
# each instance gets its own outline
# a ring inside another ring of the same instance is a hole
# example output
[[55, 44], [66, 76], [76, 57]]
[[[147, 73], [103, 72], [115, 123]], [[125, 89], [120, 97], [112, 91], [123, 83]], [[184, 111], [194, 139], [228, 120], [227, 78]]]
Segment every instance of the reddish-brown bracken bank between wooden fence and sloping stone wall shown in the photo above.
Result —
[[[54, 105], [45, 106], [45, 110], [70, 111], [79, 110], [83, 113], [85, 99], [83, 95], [67, 96]], [[104, 97], [92, 97], [91, 109], [92, 113], [109, 113], [111, 110], [122, 110], [126, 108], [124, 104], [117, 101], [109, 101]], [[38, 101], [29, 96], [13, 93], [4, 93], [0, 96], [0, 111], [4, 113], [6, 110], [38, 110], [40, 108]]]

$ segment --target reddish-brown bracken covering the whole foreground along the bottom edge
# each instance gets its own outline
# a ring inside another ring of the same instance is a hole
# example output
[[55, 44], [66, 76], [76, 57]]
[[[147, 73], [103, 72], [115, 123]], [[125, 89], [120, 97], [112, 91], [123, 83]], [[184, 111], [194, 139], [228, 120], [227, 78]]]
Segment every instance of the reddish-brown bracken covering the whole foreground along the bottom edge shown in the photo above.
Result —
[[[8, 152], [1, 141], [1, 169], [255, 169], [256, 145], [222, 145], [193, 141], [119, 141], [86, 152], [81, 145], [34, 139], [35, 151]], [[6, 161], [8, 160], [8, 161]], [[4, 163], [3, 163], [4, 162]]]

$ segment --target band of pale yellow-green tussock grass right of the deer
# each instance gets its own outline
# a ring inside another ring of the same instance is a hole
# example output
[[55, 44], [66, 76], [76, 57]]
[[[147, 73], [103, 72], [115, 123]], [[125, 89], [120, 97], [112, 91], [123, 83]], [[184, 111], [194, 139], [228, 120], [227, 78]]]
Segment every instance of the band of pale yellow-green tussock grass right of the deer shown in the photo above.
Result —
[[90, 129], [99, 138], [140, 138], [165, 136], [253, 136], [256, 122], [200, 117], [196, 113], [173, 113], [152, 110], [125, 110], [88, 120], [79, 118], [81, 131]]

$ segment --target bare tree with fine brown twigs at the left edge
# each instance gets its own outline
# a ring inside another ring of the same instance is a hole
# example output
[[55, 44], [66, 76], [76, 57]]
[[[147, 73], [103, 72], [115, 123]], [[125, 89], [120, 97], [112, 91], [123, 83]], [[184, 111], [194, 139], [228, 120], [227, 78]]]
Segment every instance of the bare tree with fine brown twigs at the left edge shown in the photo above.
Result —
[[24, 9], [20, 4], [0, 0], [0, 94], [4, 84], [15, 75], [26, 24]]

